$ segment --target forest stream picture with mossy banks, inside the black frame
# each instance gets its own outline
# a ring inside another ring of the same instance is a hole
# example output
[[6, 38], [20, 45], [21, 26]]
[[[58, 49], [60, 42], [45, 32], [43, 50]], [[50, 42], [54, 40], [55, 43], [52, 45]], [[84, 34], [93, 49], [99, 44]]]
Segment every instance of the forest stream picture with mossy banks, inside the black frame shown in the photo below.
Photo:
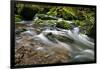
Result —
[[95, 8], [14, 6], [15, 66], [95, 60]]

